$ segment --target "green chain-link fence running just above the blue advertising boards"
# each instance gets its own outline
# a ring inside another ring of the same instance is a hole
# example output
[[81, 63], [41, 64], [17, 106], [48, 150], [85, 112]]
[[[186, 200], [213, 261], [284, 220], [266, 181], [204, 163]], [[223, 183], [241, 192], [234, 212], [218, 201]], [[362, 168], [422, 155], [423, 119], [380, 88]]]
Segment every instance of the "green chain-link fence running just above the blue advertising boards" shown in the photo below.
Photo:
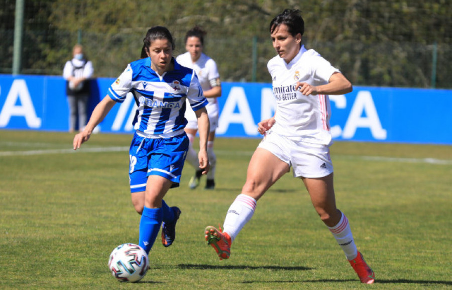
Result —
[[[174, 34], [174, 54], [184, 53], [183, 32]], [[14, 31], [2, 31], [1, 35], [0, 72], [11, 74]], [[80, 41], [93, 62], [96, 77], [117, 77], [127, 63], [140, 57], [143, 37], [141, 30], [113, 35], [26, 31], [20, 73], [61, 75], [64, 63], [71, 58], [72, 46]], [[304, 39], [304, 44], [341, 69], [355, 85], [452, 88], [449, 44], [311, 43], [309, 39]], [[275, 51], [270, 38], [208, 38], [204, 52], [217, 62], [223, 81], [271, 81], [267, 62]]]

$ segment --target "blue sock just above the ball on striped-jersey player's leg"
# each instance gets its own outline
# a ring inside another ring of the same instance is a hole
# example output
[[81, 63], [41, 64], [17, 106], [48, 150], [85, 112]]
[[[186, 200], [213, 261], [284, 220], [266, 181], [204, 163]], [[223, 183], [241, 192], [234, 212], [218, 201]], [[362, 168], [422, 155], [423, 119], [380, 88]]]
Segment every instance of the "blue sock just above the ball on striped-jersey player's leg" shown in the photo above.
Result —
[[[162, 225], [164, 213], [163, 208], [163, 206], [159, 209], [150, 209], [144, 207], [143, 214], [141, 215], [139, 246], [142, 247], [148, 254], [152, 246], [154, 245], [155, 239], [157, 238], [160, 230], [160, 226]], [[172, 210], [167, 205], [166, 208], [168, 208], [169, 211], [172, 212]]]

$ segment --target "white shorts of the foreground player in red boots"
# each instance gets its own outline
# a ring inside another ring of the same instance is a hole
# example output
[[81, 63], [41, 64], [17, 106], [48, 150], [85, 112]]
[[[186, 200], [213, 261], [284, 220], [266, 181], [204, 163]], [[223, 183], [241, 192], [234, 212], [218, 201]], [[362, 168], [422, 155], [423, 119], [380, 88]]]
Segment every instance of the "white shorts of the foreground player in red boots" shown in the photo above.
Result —
[[294, 177], [319, 178], [333, 172], [329, 147], [267, 133], [258, 148], [270, 151], [293, 168]]

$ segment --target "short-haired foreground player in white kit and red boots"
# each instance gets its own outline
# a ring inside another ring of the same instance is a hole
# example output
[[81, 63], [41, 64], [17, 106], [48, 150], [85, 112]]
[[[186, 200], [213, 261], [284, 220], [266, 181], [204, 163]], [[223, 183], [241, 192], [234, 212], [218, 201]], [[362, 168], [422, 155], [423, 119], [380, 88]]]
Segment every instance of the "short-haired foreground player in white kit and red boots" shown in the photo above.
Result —
[[285, 10], [270, 23], [278, 56], [268, 62], [277, 100], [273, 118], [258, 124], [265, 134], [248, 166], [242, 194], [225, 217], [223, 232], [212, 226], [205, 239], [220, 259], [231, 254], [231, 243], [251, 219], [256, 202], [293, 167], [303, 180], [321, 220], [344, 250], [361, 282], [373, 283], [375, 275], [358, 252], [347, 217], [336, 208], [333, 168], [329, 158], [329, 100], [327, 94], [352, 91], [352, 84], [314, 50], [301, 45], [304, 22], [298, 10]]

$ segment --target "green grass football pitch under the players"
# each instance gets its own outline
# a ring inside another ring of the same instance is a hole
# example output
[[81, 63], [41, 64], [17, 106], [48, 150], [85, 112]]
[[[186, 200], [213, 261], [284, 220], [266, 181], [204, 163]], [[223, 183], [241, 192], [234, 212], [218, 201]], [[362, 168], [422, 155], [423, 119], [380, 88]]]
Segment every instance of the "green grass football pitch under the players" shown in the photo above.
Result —
[[69, 133], [0, 130], [0, 288], [452, 287], [452, 146], [331, 147], [337, 206], [377, 277], [364, 285], [291, 173], [258, 202], [231, 258], [219, 261], [204, 227], [222, 223], [259, 142], [224, 138], [215, 142], [216, 189], [189, 190], [187, 165], [181, 187], [165, 198], [182, 210], [174, 245], [157, 240], [143, 280], [120, 283], [108, 256], [119, 244], [138, 242], [140, 220], [128, 183], [131, 137], [93, 135], [73, 152]]

